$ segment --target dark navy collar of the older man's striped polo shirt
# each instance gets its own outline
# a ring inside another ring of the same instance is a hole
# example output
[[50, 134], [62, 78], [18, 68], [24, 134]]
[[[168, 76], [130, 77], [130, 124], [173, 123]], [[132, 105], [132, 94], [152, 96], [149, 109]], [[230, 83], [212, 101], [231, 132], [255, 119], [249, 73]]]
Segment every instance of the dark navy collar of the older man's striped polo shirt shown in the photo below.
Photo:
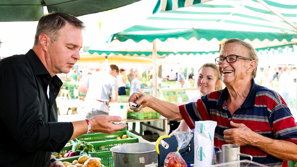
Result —
[[[254, 79], [252, 79], [251, 90], [249, 91], [249, 94], [247, 95], [247, 98], [244, 100], [244, 103], [242, 103], [241, 107], [249, 108], [255, 105], [257, 90], [258, 90], [258, 86], [255, 83]], [[224, 102], [227, 101], [228, 95], [229, 95], [228, 89], [227, 87], [225, 87], [225, 89], [223, 90], [222, 94], [218, 99], [217, 106], [223, 105]]]

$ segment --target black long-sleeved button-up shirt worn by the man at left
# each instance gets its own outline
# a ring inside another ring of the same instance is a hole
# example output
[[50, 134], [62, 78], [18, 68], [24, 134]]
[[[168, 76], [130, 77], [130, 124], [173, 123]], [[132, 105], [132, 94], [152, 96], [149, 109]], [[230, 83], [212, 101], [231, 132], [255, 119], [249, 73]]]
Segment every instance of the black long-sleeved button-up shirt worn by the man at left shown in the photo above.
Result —
[[0, 166], [47, 167], [63, 149], [73, 126], [57, 122], [61, 86], [32, 49], [0, 61]]

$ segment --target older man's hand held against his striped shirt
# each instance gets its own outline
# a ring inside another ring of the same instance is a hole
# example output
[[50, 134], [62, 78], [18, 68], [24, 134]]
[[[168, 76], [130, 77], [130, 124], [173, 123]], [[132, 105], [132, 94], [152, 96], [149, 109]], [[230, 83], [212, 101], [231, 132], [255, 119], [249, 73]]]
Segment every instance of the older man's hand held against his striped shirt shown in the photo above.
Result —
[[[237, 124], [230, 121], [230, 125], [234, 128], [224, 130], [224, 138], [229, 144], [244, 146], [252, 144], [255, 141], [255, 132], [244, 124]], [[257, 133], [256, 133], [257, 134]]]

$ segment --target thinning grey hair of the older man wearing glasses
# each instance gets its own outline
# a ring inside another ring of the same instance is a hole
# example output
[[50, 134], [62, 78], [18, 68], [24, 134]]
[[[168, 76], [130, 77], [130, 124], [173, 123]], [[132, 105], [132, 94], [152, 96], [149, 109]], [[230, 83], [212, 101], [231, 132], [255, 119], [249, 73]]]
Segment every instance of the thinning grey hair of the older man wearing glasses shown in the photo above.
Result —
[[247, 55], [248, 57], [247, 58], [257, 61], [256, 67], [252, 72], [252, 78], [255, 78], [256, 74], [257, 74], [257, 67], [258, 67], [258, 55], [257, 55], [256, 50], [252, 47], [251, 44], [249, 44], [249, 43], [247, 43], [247, 42], [245, 42], [243, 40], [237, 39], [237, 38], [236, 39], [227, 39], [227, 40], [225, 40], [225, 42], [223, 43], [223, 46], [226, 45], [227, 43], [233, 43], [233, 42], [239, 43], [244, 48], [247, 48], [247, 51], [248, 51], [248, 55]]

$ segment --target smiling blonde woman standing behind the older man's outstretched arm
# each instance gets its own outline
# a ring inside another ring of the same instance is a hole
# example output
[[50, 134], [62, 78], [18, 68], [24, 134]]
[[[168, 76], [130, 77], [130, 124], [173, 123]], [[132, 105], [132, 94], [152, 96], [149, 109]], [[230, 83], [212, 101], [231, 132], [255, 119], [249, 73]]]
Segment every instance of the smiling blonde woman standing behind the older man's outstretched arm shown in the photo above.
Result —
[[[214, 63], [205, 63], [198, 70], [198, 75], [196, 76], [197, 88], [200, 92], [199, 96], [190, 99], [187, 103], [192, 103], [200, 99], [200, 97], [205, 96], [206, 94], [222, 89], [221, 79], [219, 77], [218, 67]], [[176, 130], [185, 131], [189, 130], [187, 123], [181, 120], [178, 128]], [[194, 129], [190, 129], [190, 132], [194, 132]], [[173, 136], [173, 133], [170, 133], [169, 136]]]

